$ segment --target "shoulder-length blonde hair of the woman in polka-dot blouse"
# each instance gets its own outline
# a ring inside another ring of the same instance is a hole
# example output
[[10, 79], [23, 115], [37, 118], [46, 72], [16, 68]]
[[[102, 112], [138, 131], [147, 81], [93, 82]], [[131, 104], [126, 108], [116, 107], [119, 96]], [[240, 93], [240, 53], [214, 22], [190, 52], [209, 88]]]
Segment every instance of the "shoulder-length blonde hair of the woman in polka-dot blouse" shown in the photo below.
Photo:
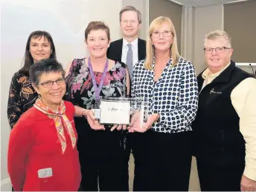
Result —
[[176, 30], [173, 26], [173, 22], [168, 18], [164, 16], [159, 16], [158, 18], [154, 19], [150, 24], [150, 29], [147, 34], [147, 47], [146, 47], [146, 61], [145, 61], [145, 68], [147, 70], [152, 70], [152, 62], [153, 62], [153, 56], [155, 56], [155, 47], [152, 44], [152, 33], [154, 30], [157, 30], [161, 27], [162, 24], [168, 24], [170, 26], [170, 31], [173, 34], [173, 44], [170, 46], [170, 57], [173, 59], [173, 65], [177, 64], [179, 61], [179, 50], [177, 45], [177, 36], [176, 36]]

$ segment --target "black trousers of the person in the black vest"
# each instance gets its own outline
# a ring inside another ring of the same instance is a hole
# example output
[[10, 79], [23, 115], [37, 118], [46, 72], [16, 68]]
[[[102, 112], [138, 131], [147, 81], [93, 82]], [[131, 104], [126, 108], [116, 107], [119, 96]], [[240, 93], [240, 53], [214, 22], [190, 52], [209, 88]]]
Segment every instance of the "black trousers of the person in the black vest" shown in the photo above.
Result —
[[244, 164], [213, 165], [196, 161], [201, 191], [240, 191]]

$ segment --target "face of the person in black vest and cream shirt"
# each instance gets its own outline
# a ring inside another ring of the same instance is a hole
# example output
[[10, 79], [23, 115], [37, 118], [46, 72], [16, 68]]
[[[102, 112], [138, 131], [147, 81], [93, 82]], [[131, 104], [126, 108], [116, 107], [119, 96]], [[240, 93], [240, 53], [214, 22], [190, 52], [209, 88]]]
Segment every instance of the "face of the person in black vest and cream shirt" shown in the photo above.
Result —
[[222, 37], [214, 40], [207, 39], [205, 41], [205, 48], [213, 48], [212, 53], [205, 52], [205, 59], [212, 73], [217, 73], [222, 70], [230, 62], [233, 53], [233, 49], [223, 49], [219, 51], [220, 53], [217, 53], [215, 50], [217, 47], [230, 48], [231, 46], [228, 44], [228, 41]]

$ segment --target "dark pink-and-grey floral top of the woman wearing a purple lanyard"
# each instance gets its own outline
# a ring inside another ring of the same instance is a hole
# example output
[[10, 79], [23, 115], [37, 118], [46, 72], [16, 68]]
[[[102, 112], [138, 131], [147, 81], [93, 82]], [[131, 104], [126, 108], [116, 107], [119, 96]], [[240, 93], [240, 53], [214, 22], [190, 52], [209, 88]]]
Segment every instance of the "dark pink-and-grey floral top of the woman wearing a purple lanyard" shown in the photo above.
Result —
[[[100, 84], [101, 72], [94, 72], [97, 86]], [[115, 62], [115, 65], [106, 72], [100, 96], [121, 97], [127, 92], [127, 66], [122, 62]], [[95, 104], [95, 87], [89, 67], [84, 59], [74, 59], [68, 76], [66, 77], [67, 92], [65, 100], [74, 105], [91, 109]]]

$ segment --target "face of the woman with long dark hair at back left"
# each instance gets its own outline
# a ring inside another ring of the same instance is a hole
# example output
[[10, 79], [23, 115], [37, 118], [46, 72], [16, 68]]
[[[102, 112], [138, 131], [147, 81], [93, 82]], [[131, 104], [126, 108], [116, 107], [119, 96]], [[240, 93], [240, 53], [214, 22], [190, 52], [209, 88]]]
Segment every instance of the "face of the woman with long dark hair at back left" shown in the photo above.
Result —
[[31, 38], [29, 52], [33, 58], [33, 62], [38, 62], [41, 59], [49, 59], [51, 56], [51, 43], [45, 36]]

